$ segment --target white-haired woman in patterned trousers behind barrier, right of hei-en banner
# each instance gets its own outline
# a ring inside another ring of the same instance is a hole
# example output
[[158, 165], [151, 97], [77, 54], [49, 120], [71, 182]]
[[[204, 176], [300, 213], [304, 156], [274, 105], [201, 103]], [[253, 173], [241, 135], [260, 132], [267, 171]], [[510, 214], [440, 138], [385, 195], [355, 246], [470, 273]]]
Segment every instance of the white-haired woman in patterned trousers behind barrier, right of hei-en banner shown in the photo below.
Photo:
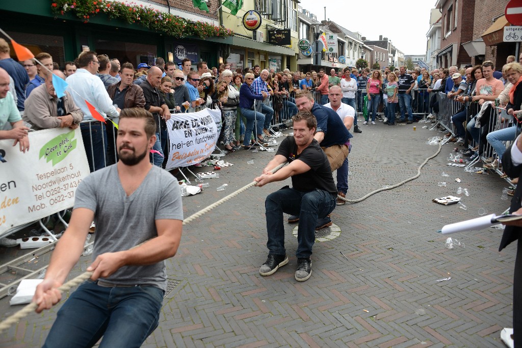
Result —
[[228, 151], [235, 151], [235, 138], [234, 138], [234, 126], [236, 120], [236, 110], [239, 105], [239, 92], [234, 87], [230, 86], [227, 79], [232, 79], [230, 70], [223, 70], [223, 80], [217, 83], [217, 100], [219, 101], [219, 108], [222, 111], [224, 125], [223, 125], [223, 143], [225, 149]]

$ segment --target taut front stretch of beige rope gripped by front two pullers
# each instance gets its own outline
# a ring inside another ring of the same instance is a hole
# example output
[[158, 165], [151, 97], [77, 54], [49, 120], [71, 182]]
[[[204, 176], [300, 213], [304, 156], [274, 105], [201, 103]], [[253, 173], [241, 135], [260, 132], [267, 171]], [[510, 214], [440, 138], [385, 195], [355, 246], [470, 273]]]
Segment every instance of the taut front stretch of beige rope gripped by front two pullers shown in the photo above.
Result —
[[[275, 173], [277, 172], [278, 170], [280, 170], [286, 163], [282, 163], [280, 165], [278, 165], [277, 167], [275, 167], [274, 169], [271, 170], [272, 173]], [[188, 224], [189, 222], [192, 222], [193, 220], [199, 218], [201, 215], [209, 212], [210, 210], [222, 205], [224, 202], [230, 200], [231, 198], [234, 198], [235, 196], [238, 196], [239, 194], [241, 194], [243, 191], [246, 191], [247, 189], [255, 186], [257, 184], [257, 182], [253, 181], [251, 182], [250, 184], [248, 185], [245, 185], [243, 187], [241, 187], [239, 190], [236, 190], [234, 191], [233, 193], [231, 193], [230, 195], [226, 196], [226, 197], [223, 197], [221, 198], [220, 200], [218, 200], [217, 202], [215, 203], [212, 203], [210, 206], [204, 208], [204, 209], [201, 209], [200, 211], [196, 212], [195, 214], [192, 214], [191, 216], [189, 216], [188, 218], [186, 218], [185, 220], [183, 220], [183, 225], [186, 225]], [[73, 278], [71, 280], [69, 280], [68, 282], [64, 283], [62, 286], [58, 287], [58, 290], [60, 290], [61, 293], [64, 293], [66, 291], [69, 291], [70, 289], [72, 289], [73, 287], [85, 282], [87, 279], [91, 278], [91, 275], [92, 275], [93, 272], [84, 272], [80, 275], [78, 275], [78, 277], [76, 278]], [[26, 316], [28, 316], [29, 314], [33, 313], [34, 310], [38, 307], [38, 305], [34, 302], [31, 302], [30, 304], [26, 305], [25, 307], [23, 307], [22, 309], [20, 309], [19, 311], [17, 311], [15, 314], [7, 317], [5, 320], [3, 320], [2, 322], [0, 322], [0, 333], [2, 333], [3, 331], [7, 330], [8, 328], [11, 327], [11, 325], [14, 325], [16, 324], [20, 319], [22, 318], [25, 318]]]

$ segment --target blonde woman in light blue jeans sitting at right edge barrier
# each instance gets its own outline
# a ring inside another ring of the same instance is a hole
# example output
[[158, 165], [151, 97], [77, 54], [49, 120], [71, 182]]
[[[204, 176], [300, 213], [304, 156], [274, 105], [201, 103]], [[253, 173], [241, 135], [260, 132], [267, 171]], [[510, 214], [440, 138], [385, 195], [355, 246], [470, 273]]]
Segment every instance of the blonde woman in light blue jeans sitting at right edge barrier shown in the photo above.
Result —
[[[504, 65], [502, 68], [502, 74], [506, 75], [506, 78], [509, 83], [511, 83], [512, 87], [507, 93], [507, 105], [506, 105], [506, 114], [501, 114], [500, 116], [504, 116], [506, 124], [509, 126], [504, 129], [499, 129], [492, 131], [486, 136], [486, 139], [491, 144], [493, 149], [497, 154], [497, 159], [494, 160], [491, 164], [485, 164], [484, 167], [488, 168], [497, 168], [501, 166], [502, 155], [506, 151], [506, 146], [503, 141], [511, 141], [515, 139], [515, 135], [520, 133], [520, 127], [516, 119], [514, 117], [520, 113], [520, 105], [522, 104], [522, 65], [519, 63], [508, 63]], [[506, 85], [506, 89], [507, 89]], [[500, 99], [500, 95], [499, 95]], [[504, 100], [501, 100], [504, 102]], [[517, 129], [518, 128], [518, 129]]]

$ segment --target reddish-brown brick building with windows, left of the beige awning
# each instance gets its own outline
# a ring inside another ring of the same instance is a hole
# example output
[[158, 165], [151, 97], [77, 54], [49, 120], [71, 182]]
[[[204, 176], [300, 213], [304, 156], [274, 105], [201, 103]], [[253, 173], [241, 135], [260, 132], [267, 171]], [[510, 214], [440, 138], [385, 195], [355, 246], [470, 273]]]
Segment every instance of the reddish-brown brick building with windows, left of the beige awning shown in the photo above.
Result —
[[[484, 4], [491, 2], [481, 1]], [[437, 54], [437, 66], [464, 67], [471, 57], [462, 46], [472, 41], [475, 0], [437, 0], [435, 8], [441, 10], [441, 49]]]

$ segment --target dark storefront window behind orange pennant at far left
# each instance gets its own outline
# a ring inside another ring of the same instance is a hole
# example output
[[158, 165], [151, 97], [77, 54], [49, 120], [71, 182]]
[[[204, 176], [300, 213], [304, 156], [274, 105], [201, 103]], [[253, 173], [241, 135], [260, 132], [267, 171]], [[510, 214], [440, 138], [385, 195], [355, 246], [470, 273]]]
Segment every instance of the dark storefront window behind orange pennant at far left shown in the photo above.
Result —
[[[45, 52], [49, 53], [53, 57], [53, 62], [58, 63], [61, 67], [65, 66], [65, 54], [64, 54], [64, 40], [60, 36], [54, 35], [41, 35], [41, 34], [26, 34], [19, 32], [7, 32], [13, 40], [17, 43], [26, 46], [34, 55]], [[15, 51], [11, 49], [13, 56], [11, 58], [18, 61], [18, 58], [14, 54]]]

